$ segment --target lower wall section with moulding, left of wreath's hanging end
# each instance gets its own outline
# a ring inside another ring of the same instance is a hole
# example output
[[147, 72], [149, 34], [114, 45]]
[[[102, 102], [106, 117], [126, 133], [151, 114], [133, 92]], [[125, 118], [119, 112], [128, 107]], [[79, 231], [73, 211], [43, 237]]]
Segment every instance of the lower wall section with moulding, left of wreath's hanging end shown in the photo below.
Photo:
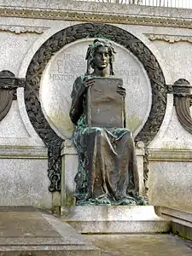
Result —
[[0, 151], [0, 206], [52, 207], [47, 150], [33, 150], [35, 152], [32, 148]]

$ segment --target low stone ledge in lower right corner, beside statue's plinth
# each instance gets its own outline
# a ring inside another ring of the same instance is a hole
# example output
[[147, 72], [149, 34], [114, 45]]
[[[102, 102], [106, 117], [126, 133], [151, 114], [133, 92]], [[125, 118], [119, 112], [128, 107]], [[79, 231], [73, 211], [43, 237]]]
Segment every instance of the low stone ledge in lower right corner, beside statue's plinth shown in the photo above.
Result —
[[174, 209], [156, 207], [155, 211], [163, 218], [172, 221], [172, 233], [192, 241], [192, 207], [189, 209]]

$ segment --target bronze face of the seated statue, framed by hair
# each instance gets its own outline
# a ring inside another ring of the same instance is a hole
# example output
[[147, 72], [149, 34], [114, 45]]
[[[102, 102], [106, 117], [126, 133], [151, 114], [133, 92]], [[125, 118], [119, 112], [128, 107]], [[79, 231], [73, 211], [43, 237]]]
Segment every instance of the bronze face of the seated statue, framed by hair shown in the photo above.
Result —
[[100, 46], [96, 49], [96, 55], [94, 56], [94, 64], [98, 69], [104, 69], [108, 67], [109, 54], [108, 47]]

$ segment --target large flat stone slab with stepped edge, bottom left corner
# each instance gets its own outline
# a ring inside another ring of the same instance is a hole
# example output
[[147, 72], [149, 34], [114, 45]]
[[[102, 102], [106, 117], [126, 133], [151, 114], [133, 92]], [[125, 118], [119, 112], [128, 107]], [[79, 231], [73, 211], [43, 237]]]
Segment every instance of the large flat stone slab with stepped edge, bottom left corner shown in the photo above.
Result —
[[1, 256], [100, 255], [69, 224], [32, 207], [0, 207]]

